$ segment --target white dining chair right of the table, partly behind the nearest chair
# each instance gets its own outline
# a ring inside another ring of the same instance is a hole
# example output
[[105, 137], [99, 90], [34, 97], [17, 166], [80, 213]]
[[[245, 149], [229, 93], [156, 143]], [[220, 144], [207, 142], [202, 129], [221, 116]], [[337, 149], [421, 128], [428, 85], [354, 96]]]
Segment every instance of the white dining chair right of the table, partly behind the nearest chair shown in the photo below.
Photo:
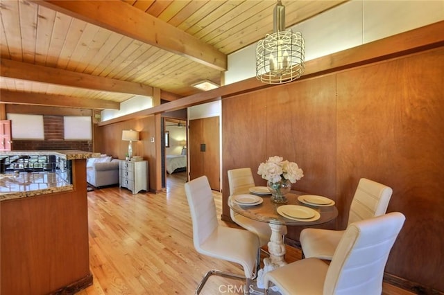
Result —
[[[385, 214], [392, 192], [393, 190], [384, 184], [366, 178], [359, 179], [350, 206], [348, 225]], [[344, 232], [329, 229], [303, 229], [299, 238], [302, 257], [332, 260]]]

